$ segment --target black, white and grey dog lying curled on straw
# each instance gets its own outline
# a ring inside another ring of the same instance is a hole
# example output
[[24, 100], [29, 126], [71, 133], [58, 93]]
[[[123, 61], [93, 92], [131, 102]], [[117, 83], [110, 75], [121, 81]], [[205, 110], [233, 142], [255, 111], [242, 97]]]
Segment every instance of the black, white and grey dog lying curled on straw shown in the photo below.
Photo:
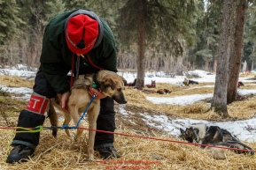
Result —
[[[241, 150], [252, 150], [251, 147], [241, 143], [237, 137], [234, 137], [228, 130], [221, 129], [218, 126], [206, 126], [206, 124], [197, 124], [187, 129], [180, 129], [183, 139], [190, 143], [209, 144], [213, 146], [222, 146], [228, 148], [236, 148], [239, 150], [232, 150], [237, 154], [247, 153]], [[206, 146], [202, 146], [205, 148]], [[226, 159], [225, 154], [221, 148], [206, 147], [207, 151], [211, 152], [213, 159]], [[253, 154], [253, 152], [251, 152]]]

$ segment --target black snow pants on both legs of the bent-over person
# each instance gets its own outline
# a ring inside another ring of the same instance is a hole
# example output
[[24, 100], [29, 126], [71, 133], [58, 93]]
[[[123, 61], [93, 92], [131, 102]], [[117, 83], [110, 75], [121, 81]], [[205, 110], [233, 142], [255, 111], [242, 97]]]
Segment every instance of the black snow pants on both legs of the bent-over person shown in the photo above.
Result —
[[[43, 71], [39, 68], [35, 77], [35, 85], [33, 91], [40, 94], [47, 99], [51, 99], [56, 96], [56, 92], [48, 83], [47, 79], [43, 75]], [[34, 128], [39, 125], [43, 125], [45, 115], [35, 114], [24, 109], [19, 114], [18, 127]], [[115, 112], [114, 102], [111, 98], [106, 97], [100, 100], [100, 112], [97, 117], [97, 129], [114, 131], [115, 129]], [[39, 144], [40, 133], [16, 133], [12, 140], [12, 145], [23, 144], [35, 150], [35, 147]], [[95, 146], [97, 145], [112, 145], [114, 141], [113, 134], [97, 132], [95, 137]]]

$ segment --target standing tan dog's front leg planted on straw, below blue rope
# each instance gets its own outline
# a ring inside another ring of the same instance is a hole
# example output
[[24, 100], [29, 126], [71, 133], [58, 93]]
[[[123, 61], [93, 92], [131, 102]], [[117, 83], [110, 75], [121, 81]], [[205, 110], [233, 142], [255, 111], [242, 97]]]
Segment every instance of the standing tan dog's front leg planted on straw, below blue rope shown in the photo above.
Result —
[[[88, 113], [89, 129], [97, 129], [97, 115], [99, 113], [99, 105], [93, 107]], [[95, 130], [89, 130], [89, 146], [88, 154], [89, 160], [94, 160], [94, 140], [95, 140]]]

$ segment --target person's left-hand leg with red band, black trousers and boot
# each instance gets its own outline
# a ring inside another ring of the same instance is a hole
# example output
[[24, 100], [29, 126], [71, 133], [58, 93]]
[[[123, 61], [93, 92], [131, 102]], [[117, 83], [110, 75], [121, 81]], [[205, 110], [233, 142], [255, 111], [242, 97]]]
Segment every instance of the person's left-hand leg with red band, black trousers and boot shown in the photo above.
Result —
[[[50, 98], [56, 95], [56, 92], [50, 87], [42, 70], [39, 68], [35, 77], [33, 94], [27, 104], [27, 108], [19, 114], [17, 127], [35, 128], [43, 125], [45, 120], [44, 111]], [[16, 133], [12, 140], [13, 149], [6, 159], [7, 163], [26, 161], [28, 156], [35, 152], [35, 147], [39, 144], [40, 133]]]

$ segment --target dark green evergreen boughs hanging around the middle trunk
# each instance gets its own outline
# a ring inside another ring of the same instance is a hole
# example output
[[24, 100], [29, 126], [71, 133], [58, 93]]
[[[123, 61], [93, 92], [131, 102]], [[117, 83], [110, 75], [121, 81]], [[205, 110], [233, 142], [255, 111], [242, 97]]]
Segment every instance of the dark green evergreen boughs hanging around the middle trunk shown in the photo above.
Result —
[[[146, 47], [158, 53], [171, 52], [182, 55], [181, 40], [192, 46], [195, 34], [192, 18], [195, 11], [193, 1], [144, 1]], [[137, 1], [130, 0], [120, 9], [119, 38], [125, 45], [133, 44], [138, 38]]]

